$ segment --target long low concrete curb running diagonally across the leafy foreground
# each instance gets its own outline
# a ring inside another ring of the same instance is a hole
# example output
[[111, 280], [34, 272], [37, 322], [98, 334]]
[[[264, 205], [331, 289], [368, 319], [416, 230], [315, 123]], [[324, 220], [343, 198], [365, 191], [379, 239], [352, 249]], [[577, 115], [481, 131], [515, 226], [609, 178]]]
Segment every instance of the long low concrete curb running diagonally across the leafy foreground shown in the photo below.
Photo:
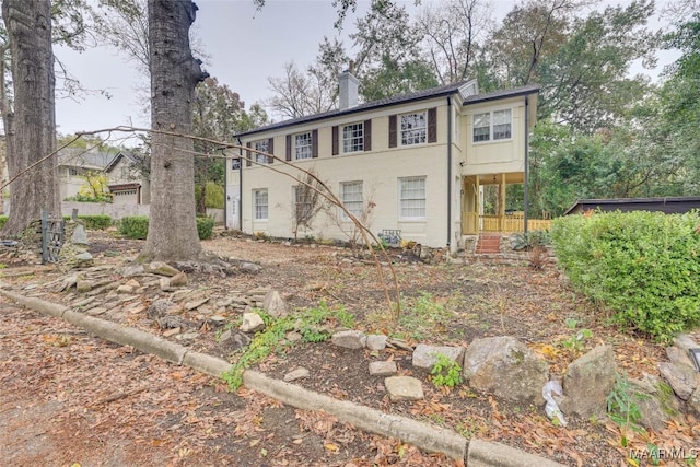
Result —
[[[225, 360], [206, 353], [192, 352], [184, 346], [170, 342], [149, 332], [73, 312], [63, 305], [24, 296], [2, 288], [0, 288], [0, 295], [35, 312], [62, 318], [105, 340], [131, 346], [142, 352], [152, 353], [178, 365], [190, 366], [214, 377], [221, 377], [222, 373], [231, 369], [231, 363]], [[324, 410], [339, 421], [350, 423], [360, 430], [400, 439], [424, 451], [441, 452], [453, 459], [463, 459], [468, 467], [563, 467], [559, 463], [501, 443], [477, 439], [467, 440], [445, 428], [384, 413], [347, 400], [338, 400], [290, 383], [270, 378], [253, 370], [244, 372], [243, 382], [246, 387], [288, 406], [304, 410]]]

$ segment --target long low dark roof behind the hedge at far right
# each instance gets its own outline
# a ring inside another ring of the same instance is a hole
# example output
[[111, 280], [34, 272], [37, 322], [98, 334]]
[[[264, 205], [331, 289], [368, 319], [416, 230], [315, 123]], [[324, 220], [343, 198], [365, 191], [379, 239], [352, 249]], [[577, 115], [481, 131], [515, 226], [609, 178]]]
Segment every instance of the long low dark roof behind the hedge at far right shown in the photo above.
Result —
[[666, 214], [678, 214], [700, 209], [700, 196], [667, 196], [664, 198], [610, 198], [580, 199], [564, 212], [579, 214], [586, 211], [661, 211]]

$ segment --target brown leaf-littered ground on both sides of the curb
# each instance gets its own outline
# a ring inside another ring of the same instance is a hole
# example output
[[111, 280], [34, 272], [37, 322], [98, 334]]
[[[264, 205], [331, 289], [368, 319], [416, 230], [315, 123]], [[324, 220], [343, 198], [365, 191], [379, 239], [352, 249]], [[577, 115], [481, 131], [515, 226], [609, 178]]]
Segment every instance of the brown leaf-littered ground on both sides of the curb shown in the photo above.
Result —
[[[124, 266], [142, 244], [90, 233], [96, 264]], [[474, 338], [514, 336], [540, 352], [552, 373], [588, 349], [614, 346], [618, 366], [630, 376], [657, 374], [663, 347], [606, 324], [605, 313], [578, 296], [551, 264], [423, 264], [393, 250], [401, 292], [398, 320], [385, 300], [377, 269], [347, 248], [289, 245], [218, 237], [209, 250], [258, 262], [258, 275], [196, 275], [188, 288], [212, 296], [267, 287], [292, 307], [342, 306], [355, 327], [382, 331], [409, 345], [467, 346]], [[32, 268], [2, 280], [28, 287], [61, 273]], [[26, 268], [26, 266], [23, 266]], [[385, 278], [389, 269], [383, 268]], [[148, 304], [153, 292], [141, 297]], [[70, 303], [75, 296], [49, 294]], [[398, 441], [372, 436], [325, 415], [282, 407], [242, 389], [233, 395], [218, 381], [94, 339], [60, 320], [0, 304], [0, 452], [2, 465], [448, 465]], [[233, 317], [232, 317], [233, 318]], [[194, 319], [194, 317], [192, 317]], [[129, 323], [162, 334], [144, 319]], [[575, 339], [590, 330], [590, 337]], [[221, 353], [218, 334], [201, 330], [197, 350]], [[235, 354], [222, 357], [236, 358]], [[423, 382], [425, 399], [390, 402], [371, 361], [393, 359], [400, 374]], [[398, 349], [350, 351], [329, 342], [299, 345], [268, 358], [259, 370], [276, 377], [299, 366], [311, 371], [301, 386], [385, 411], [448, 427], [465, 436], [495, 440], [571, 466], [629, 465], [630, 448], [700, 447], [700, 422], [684, 416], [660, 433], [627, 433], [609, 420], [569, 420], [555, 427], [542, 407], [513, 407], [466, 386], [444, 389], [415, 372]], [[644, 460], [640, 465], [645, 465]], [[650, 464], [651, 465], [651, 464]], [[688, 465], [664, 460], [660, 465]], [[692, 465], [692, 464], [690, 464]]]

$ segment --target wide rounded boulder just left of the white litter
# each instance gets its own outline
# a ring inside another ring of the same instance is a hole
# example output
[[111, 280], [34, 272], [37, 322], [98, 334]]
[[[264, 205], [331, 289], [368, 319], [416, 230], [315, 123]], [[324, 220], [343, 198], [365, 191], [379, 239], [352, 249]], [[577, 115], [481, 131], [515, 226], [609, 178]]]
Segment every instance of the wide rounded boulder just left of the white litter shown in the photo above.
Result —
[[517, 404], [541, 404], [549, 365], [513, 337], [475, 339], [464, 357], [464, 377], [474, 389]]

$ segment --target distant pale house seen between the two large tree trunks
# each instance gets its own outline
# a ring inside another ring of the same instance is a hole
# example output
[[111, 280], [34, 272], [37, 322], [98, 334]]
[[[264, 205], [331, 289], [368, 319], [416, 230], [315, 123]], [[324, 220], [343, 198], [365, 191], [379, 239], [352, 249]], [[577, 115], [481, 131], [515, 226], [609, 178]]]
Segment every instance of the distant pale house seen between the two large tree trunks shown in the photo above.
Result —
[[126, 151], [102, 152], [96, 149], [63, 148], [58, 153], [60, 199], [78, 195], [85, 185], [84, 176], [91, 172], [107, 176], [113, 202], [119, 205], [148, 205], [148, 179], [141, 178], [138, 161]]

